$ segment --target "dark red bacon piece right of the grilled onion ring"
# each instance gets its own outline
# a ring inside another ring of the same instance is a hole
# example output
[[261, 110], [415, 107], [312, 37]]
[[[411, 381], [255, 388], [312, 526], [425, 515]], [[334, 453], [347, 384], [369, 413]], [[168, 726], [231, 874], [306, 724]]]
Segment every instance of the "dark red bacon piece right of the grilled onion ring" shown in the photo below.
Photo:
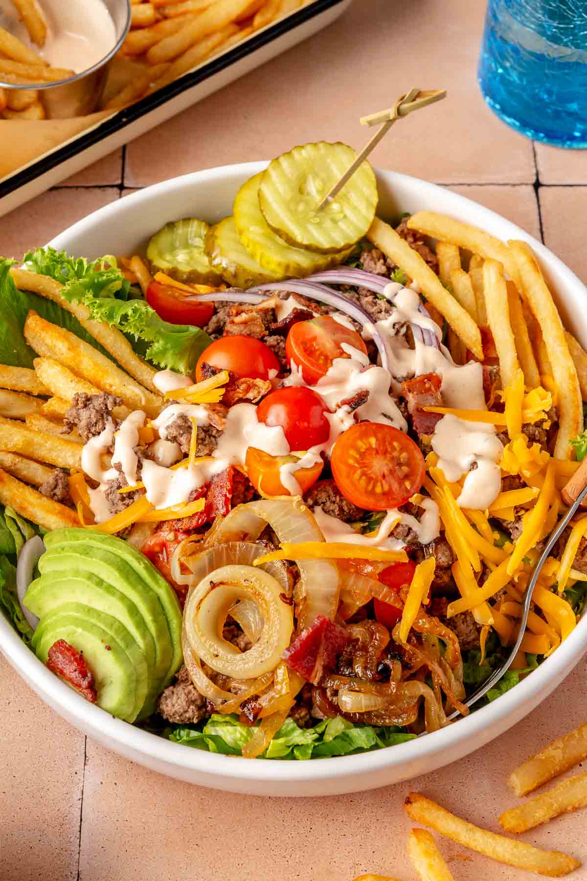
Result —
[[319, 615], [285, 649], [282, 658], [312, 685], [319, 685], [324, 674], [335, 669], [336, 659], [348, 642], [349, 633], [343, 627]]

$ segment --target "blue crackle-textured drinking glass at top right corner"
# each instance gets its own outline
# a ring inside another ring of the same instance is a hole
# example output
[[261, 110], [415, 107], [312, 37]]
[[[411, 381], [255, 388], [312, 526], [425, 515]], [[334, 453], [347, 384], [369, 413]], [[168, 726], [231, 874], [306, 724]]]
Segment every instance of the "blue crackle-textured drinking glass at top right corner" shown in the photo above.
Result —
[[587, 0], [488, 0], [478, 75], [517, 131], [587, 147]]

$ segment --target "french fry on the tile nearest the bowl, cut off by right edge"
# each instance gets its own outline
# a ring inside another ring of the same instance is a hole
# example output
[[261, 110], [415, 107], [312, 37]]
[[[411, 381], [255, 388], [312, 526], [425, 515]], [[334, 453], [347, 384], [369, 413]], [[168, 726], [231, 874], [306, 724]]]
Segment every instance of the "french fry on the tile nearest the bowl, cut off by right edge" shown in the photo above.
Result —
[[564, 774], [583, 759], [587, 759], [587, 722], [569, 734], [557, 737], [531, 759], [518, 765], [508, 777], [508, 786], [515, 795], [526, 796], [532, 789]]

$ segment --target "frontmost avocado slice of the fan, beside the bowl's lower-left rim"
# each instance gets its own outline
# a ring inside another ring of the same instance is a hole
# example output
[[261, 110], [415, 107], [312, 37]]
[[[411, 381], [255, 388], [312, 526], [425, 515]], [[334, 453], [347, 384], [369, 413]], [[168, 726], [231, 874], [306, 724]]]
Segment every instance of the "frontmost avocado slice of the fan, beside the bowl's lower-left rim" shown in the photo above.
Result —
[[34, 632], [32, 646], [47, 663], [49, 648], [65, 640], [84, 653], [107, 713], [134, 722], [147, 692], [147, 662], [141, 648], [112, 615], [83, 603], [64, 603], [49, 611]]

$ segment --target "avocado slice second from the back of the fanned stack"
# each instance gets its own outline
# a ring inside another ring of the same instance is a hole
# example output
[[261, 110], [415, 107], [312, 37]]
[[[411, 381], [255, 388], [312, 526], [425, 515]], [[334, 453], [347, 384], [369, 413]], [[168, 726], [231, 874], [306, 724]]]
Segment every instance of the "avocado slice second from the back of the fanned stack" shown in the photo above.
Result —
[[[45, 552], [39, 561], [39, 569], [42, 577], [37, 581], [41, 583], [37, 584], [33, 581], [26, 593], [27, 608], [31, 611], [34, 609], [34, 614], [39, 618], [42, 618], [45, 610], [49, 608], [47, 603], [50, 603], [51, 608], [56, 603], [67, 602], [68, 599], [91, 606], [98, 603], [97, 607], [114, 614], [133, 633], [135, 639], [143, 646], [149, 665], [150, 688], [141, 716], [153, 713], [158, 695], [167, 685], [167, 674], [172, 665], [173, 655], [167, 620], [158, 596], [143, 581], [137, 579], [134, 569], [128, 566], [120, 555], [101, 547], [87, 547], [83, 542], [68, 544], [67, 547], [60, 545]], [[81, 583], [70, 585], [71, 575], [81, 576]], [[87, 581], [84, 582], [84, 579]], [[93, 585], [96, 579], [99, 581], [99, 588], [106, 583], [106, 589], [102, 590], [100, 598], [93, 594], [93, 587], [88, 592], [88, 587]], [[50, 583], [55, 584], [55, 582], [62, 585], [64, 580], [68, 581], [65, 593], [62, 587], [51, 589], [49, 586]], [[129, 604], [128, 614], [131, 618], [135, 615], [140, 616], [141, 622], [138, 625], [142, 628], [140, 638], [136, 628], [128, 626], [127, 621], [120, 618], [121, 613], [116, 614], [109, 608], [104, 594], [108, 595], [111, 591], [114, 591], [115, 599], [118, 596], [123, 597], [123, 605]], [[61, 596], [61, 600], [56, 595]]]

